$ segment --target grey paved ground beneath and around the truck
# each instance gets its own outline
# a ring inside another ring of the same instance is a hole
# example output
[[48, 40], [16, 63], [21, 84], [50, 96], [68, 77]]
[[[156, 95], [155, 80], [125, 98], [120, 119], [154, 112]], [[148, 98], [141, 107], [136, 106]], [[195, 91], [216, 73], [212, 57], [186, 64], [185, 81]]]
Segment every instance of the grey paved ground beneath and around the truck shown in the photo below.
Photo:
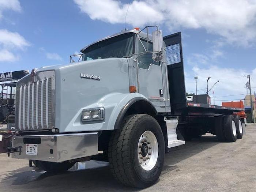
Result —
[[51, 174], [29, 167], [27, 160], [0, 154], [0, 191], [124, 190], [256, 191], [256, 125], [248, 125], [246, 135], [234, 143], [206, 135], [171, 150], [158, 182], [143, 190], [118, 184], [105, 162], [78, 163], [68, 172]]

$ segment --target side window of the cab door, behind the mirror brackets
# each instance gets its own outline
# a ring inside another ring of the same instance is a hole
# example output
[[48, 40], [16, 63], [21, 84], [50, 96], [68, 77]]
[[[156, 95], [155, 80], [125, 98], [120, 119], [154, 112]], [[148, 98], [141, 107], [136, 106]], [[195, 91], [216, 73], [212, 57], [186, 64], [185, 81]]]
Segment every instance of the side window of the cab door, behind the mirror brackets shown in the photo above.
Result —
[[[140, 40], [142, 41], [144, 47], [147, 49], [147, 41], [144, 39], [140, 39]], [[150, 41], [148, 42], [148, 51], [153, 51], [153, 44]], [[141, 52], [145, 52], [145, 50], [142, 44], [139, 42], [138, 53], [141, 53]], [[148, 69], [151, 64], [160, 65], [160, 62], [153, 61], [152, 53], [146, 53], [138, 57], [139, 68]]]

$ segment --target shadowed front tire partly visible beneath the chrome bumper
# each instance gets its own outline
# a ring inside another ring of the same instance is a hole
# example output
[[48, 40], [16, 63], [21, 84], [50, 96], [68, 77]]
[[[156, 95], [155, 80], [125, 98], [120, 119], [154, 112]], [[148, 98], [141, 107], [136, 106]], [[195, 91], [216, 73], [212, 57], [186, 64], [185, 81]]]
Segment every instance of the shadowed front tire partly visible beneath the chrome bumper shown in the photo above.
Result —
[[33, 160], [33, 163], [40, 170], [43, 170], [46, 172], [63, 172], [63, 171], [70, 169], [73, 165], [75, 165], [75, 162], [71, 163], [68, 161], [64, 161], [61, 163], [55, 163], [55, 162], [48, 162], [48, 161]]

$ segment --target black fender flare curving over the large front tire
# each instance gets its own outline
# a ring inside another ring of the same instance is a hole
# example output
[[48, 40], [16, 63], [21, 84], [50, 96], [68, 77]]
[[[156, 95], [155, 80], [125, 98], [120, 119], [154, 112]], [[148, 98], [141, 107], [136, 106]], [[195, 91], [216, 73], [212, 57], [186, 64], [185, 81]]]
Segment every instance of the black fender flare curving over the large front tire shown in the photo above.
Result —
[[157, 110], [155, 109], [154, 105], [146, 98], [144, 97], [135, 97], [132, 98], [129, 102], [126, 103], [126, 105], [124, 105], [123, 109], [120, 111], [120, 113], [117, 116], [116, 119], [116, 123], [114, 125], [114, 129], [119, 129], [121, 127], [121, 123], [125, 117], [125, 114], [128, 112], [128, 109], [135, 103], [138, 101], [142, 101], [143, 103], [145, 103], [149, 108], [150, 111], [147, 112], [147, 114], [150, 114], [152, 116], [157, 116]]

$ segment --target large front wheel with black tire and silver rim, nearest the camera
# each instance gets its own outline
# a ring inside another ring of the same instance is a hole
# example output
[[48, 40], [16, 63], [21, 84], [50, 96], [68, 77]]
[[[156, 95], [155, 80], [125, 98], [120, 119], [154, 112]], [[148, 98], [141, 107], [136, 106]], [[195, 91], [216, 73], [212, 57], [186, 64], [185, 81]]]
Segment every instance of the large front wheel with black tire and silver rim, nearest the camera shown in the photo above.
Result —
[[138, 188], [153, 185], [164, 160], [161, 127], [147, 114], [127, 116], [122, 127], [112, 133], [108, 151], [110, 169], [121, 184]]

